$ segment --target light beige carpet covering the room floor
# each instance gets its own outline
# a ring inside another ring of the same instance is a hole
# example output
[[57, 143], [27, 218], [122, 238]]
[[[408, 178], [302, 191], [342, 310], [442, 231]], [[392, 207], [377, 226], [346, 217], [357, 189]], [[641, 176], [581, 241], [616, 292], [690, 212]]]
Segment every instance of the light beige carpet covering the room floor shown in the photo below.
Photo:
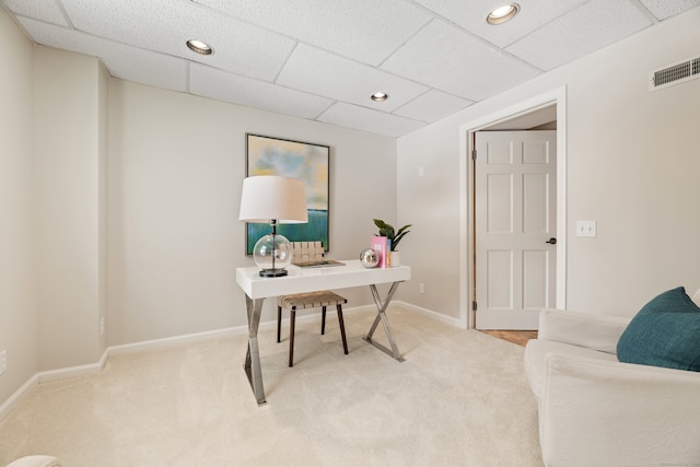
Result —
[[[246, 337], [118, 354], [93, 376], [39, 385], [0, 422], [0, 465], [28, 454], [73, 466], [541, 466], [523, 348], [392, 306], [406, 362], [361, 338], [374, 318], [298, 320], [260, 332], [268, 404], [243, 371]], [[283, 327], [283, 336], [288, 328]], [[380, 326], [375, 337], [383, 337]]]

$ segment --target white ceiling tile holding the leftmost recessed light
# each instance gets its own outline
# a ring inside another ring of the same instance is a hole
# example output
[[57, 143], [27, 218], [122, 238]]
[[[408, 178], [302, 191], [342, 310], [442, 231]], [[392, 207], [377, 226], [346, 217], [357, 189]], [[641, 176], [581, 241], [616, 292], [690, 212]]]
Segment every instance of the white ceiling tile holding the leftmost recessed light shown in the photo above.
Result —
[[[294, 46], [292, 39], [185, 0], [62, 3], [80, 31], [266, 81], [277, 75]], [[208, 43], [214, 54], [192, 52], [185, 45], [191, 38]]]

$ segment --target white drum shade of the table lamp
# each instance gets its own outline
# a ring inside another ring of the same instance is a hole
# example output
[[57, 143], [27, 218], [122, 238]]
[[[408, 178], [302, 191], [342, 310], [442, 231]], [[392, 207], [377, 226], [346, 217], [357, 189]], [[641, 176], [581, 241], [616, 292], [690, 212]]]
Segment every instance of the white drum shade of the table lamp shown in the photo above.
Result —
[[306, 189], [301, 180], [259, 175], [243, 180], [240, 221], [282, 224], [308, 222]]

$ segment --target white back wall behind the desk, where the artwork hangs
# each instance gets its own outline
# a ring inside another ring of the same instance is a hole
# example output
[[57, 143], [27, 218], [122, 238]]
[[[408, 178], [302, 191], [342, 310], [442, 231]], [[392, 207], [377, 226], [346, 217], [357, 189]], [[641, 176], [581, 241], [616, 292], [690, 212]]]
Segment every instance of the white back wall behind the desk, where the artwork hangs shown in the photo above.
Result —
[[[243, 326], [245, 133], [330, 147], [330, 258], [396, 212], [396, 140], [112, 80], [109, 343]], [[348, 306], [369, 290], [343, 291]], [[268, 301], [269, 302], [269, 301]], [[262, 320], [276, 318], [268, 303]]]

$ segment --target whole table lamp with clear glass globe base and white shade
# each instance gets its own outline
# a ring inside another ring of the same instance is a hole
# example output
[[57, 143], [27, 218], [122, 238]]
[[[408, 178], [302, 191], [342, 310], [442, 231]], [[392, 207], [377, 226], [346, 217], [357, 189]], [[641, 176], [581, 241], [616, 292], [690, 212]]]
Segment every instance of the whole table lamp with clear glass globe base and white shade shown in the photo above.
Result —
[[272, 233], [257, 241], [253, 258], [261, 277], [287, 276], [292, 262], [292, 248], [284, 235], [277, 233], [277, 224], [308, 222], [306, 189], [294, 178], [260, 175], [243, 180], [240, 221], [270, 223]]

